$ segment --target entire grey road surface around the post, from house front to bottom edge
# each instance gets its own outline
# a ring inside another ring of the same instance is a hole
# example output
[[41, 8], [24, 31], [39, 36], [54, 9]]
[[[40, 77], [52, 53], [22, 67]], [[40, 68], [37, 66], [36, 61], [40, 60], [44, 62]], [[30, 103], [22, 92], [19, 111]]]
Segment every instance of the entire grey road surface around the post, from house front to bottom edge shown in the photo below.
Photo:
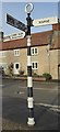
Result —
[[[60, 82], [34, 81], [33, 92], [34, 114], [36, 120], [36, 125], [34, 127], [34, 129], [58, 129], [58, 113], [60, 117]], [[28, 111], [26, 100], [26, 81], [20, 79], [2, 79], [3, 129], [13, 129], [13, 124], [14, 129], [22, 129], [22, 125], [24, 127], [24, 129], [27, 128], [26, 119]], [[8, 122], [8, 120], [10, 123]], [[8, 122], [8, 124], [5, 122]], [[20, 128], [19, 124], [21, 124]]]

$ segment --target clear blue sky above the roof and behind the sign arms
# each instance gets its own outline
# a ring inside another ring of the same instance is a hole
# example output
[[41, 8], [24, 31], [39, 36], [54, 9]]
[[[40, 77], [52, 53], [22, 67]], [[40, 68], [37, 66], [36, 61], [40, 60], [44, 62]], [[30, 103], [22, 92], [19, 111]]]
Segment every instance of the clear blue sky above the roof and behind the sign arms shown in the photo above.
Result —
[[[9, 13], [13, 18], [20, 20], [24, 24], [26, 24], [26, 12], [25, 12], [25, 6], [27, 2], [0, 2], [0, 29], [4, 32], [5, 35], [12, 34], [12, 33], [19, 33], [22, 32], [19, 29], [15, 29], [5, 22], [5, 14]], [[43, 19], [43, 18], [49, 18], [49, 16], [58, 16], [58, 2], [32, 2], [34, 6], [34, 9], [31, 13], [31, 18], [33, 20], [36, 19]], [[38, 26], [32, 28], [32, 33], [36, 32], [44, 32], [51, 30], [51, 25], [46, 26]]]

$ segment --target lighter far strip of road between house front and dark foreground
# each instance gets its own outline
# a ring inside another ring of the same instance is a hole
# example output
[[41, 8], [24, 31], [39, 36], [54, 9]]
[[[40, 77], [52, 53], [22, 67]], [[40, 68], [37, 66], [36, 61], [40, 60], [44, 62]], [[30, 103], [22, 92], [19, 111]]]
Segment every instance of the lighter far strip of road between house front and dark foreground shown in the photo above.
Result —
[[[17, 98], [27, 98], [26, 81], [3, 79], [3, 96], [11, 96]], [[59, 84], [60, 87], [60, 84]], [[36, 103], [47, 103], [58, 106], [58, 82], [33, 82], [34, 100]]]

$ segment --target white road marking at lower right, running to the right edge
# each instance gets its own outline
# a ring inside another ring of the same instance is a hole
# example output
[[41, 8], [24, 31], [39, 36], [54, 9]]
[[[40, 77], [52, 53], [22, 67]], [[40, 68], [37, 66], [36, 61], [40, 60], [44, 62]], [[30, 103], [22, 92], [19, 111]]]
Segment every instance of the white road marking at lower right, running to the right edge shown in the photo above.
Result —
[[60, 112], [60, 106], [47, 105], [47, 103], [35, 103], [36, 106], [47, 107], [49, 110]]

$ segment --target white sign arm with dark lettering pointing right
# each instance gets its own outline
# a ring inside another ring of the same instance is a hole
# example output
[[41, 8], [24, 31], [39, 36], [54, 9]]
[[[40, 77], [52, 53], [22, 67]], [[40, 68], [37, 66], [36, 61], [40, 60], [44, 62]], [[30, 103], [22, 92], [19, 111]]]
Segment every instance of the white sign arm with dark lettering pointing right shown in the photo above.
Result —
[[33, 21], [34, 26], [41, 26], [41, 25], [56, 24], [56, 23], [58, 23], [57, 16], [37, 19]]

